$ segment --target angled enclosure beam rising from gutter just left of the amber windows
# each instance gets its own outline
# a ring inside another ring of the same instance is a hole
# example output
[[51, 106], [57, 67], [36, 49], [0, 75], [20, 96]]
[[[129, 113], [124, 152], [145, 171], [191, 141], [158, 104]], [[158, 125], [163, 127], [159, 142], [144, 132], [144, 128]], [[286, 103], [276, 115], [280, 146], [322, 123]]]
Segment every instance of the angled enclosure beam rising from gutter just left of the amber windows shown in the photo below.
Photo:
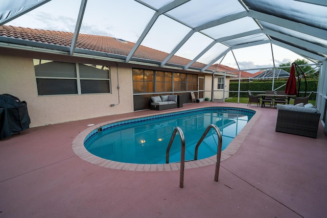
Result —
[[143, 30], [143, 33], [141, 34], [141, 36], [139, 36], [139, 38], [137, 39], [137, 42], [135, 43], [133, 49], [129, 52], [128, 56], [126, 57], [126, 63], [128, 63], [131, 59], [131, 57], [134, 55], [134, 53], [136, 52], [136, 50], [138, 49], [139, 45], [141, 45], [142, 41], [144, 40], [144, 38], [147, 36], [147, 34], [149, 33], [149, 31], [151, 30], [152, 26], [154, 25], [155, 21], [157, 20], [157, 18], [161, 15], [164, 14], [180, 5], [185, 4], [186, 2], [189, 2], [191, 0], [175, 0], [163, 7], [161, 7], [160, 9], [158, 9], [158, 11], [156, 11], [151, 20], [149, 21], [148, 25], [146, 26], [146, 28]]

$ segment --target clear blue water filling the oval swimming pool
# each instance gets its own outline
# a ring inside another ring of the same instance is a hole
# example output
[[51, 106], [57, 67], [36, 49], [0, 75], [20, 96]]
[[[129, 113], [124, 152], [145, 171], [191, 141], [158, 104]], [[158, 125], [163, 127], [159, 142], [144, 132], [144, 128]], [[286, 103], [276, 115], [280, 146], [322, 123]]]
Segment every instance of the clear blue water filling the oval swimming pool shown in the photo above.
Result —
[[[209, 124], [215, 124], [222, 133], [224, 150], [242, 130], [255, 111], [209, 107], [144, 118], [124, 120], [92, 131], [84, 140], [85, 148], [104, 159], [125, 162], [166, 163], [166, 150], [175, 127], [185, 136], [185, 160], [194, 160], [196, 143]], [[204, 138], [198, 150], [198, 159], [217, 154], [218, 137], [214, 129]], [[181, 142], [175, 136], [169, 162], [180, 162]]]

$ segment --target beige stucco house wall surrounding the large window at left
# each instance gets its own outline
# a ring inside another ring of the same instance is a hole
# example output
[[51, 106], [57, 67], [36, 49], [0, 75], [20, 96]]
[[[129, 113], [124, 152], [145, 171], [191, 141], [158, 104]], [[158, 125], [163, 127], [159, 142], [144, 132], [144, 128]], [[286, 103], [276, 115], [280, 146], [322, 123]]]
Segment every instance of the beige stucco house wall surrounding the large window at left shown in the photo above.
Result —
[[[47, 58], [51, 57], [43, 57]], [[108, 61], [103, 64], [110, 66], [112, 93], [37, 96], [33, 58], [0, 54], [0, 94], [8, 93], [27, 102], [30, 127], [132, 112], [132, 67], [125, 63], [117, 67]]]

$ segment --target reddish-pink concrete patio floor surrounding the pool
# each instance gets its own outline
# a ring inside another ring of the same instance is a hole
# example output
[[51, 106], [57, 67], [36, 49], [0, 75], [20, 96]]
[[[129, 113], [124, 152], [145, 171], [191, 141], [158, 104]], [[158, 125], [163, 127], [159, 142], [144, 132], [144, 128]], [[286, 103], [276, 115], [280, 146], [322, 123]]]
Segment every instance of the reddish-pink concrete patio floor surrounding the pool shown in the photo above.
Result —
[[325, 217], [327, 135], [275, 132], [277, 110], [261, 111], [239, 150], [221, 162], [179, 171], [125, 171], [91, 164], [72, 149], [88, 124], [157, 111], [30, 128], [0, 140], [0, 217]]

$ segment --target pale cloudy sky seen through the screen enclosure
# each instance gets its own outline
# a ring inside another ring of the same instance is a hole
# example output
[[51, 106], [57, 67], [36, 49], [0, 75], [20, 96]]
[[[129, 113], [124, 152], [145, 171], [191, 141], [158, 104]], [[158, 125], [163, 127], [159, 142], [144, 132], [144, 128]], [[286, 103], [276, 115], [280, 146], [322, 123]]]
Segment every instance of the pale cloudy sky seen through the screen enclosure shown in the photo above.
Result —
[[[157, 4], [159, 7], [159, 4], [165, 4], [165, 1], [169, 2], [169, 0], [160, 0], [153, 4]], [[13, 1], [8, 2], [10, 2], [9, 4], [13, 4]], [[145, 2], [151, 1], [147, 0]], [[52, 0], [49, 3], [5, 23], [5, 25], [74, 32], [80, 4], [80, 0]], [[193, 4], [197, 4], [197, 2], [194, 1]], [[201, 5], [193, 6], [192, 8], [194, 7], [196, 7], [194, 10], [199, 10], [197, 7], [201, 7]], [[213, 8], [212, 10], [216, 9]], [[192, 10], [190, 13], [192, 13]], [[208, 11], [207, 13], [213, 12]], [[110, 36], [135, 43], [153, 14], [154, 10], [132, 0], [89, 0], [84, 13], [80, 33]], [[205, 17], [201, 19], [205, 19]], [[226, 27], [228, 33], [225, 34], [233, 34], [233, 31], [242, 29], [242, 21], [237, 20], [233, 22], [232, 26], [233, 29], [230, 29], [230, 26]], [[173, 21], [167, 16], [160, 15], [143, 40], [142, 45], [170, 53], [189, 31], [190, 28], [181, 23]], [[224, 34], [224, 32], [226, 31], [217, 31], [217, 34]], [[223, 37], [224, 35], [221, 36]], [[175, 55], [192, 60], [211, 42], [212, 39], [209, 39], [203, 34], [195, 33]], [[225, 49], [226, 47], [224, 45], [216, 44], [198, 61], [208, 64], [213, 60], [213, 57], [217, 57], [218, 54]], [[273, 51], [273, 56], [271, 51]], [[235, 58], [238, 60], [237, 63]], [[259, 69], [273, 67], [273, 58], [276, 67], [281, 63], [303, 59], [303, 57], [276, 45], [272, 45], [271, 50], [271, 44], [266, 43], [233, 50], [233, 53], [227, 53], [222, 62], [220, 59], [216, 63], [221, 63], [233, 68], [240, 67], [241, 70], [258, 68], [258, 70], [247, 70], [249, 72], [256, 72], [259, 71]]]

